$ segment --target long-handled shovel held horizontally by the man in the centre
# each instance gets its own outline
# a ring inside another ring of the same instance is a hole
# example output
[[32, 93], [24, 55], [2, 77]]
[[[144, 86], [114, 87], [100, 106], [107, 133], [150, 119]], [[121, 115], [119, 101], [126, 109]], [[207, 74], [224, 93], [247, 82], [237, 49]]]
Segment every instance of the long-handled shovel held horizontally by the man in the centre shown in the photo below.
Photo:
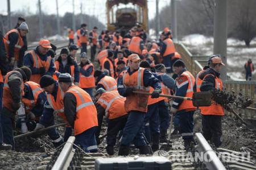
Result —
[[[152, 93], [148, 92], [140, 92], [140, 91], [133, 91], [133, 93], [137, 94], [145, 94], [145, 95], [152, 95]], [[177, 98], [177, 99], [184, 99], [193, 102], [193, 106], [200, 107], [200, 106], [210, 106], [212, 104], [212, 92], [194, 92], [192, 98], [191, 97], [181, 97], [181, 96], [171, 96], [166, 94], [159, 94], [159, 97], [167, 97], [167, 98]]]

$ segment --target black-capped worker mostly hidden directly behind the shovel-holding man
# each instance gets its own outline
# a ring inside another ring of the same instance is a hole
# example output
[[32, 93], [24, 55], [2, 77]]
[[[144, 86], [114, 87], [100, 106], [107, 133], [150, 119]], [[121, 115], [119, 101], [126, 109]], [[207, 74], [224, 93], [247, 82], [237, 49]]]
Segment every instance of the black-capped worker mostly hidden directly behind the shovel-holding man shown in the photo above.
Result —
[[[139, 66], [150, 72], [150, 64], [147, 61], [142, 61]], [[159, 74], [153, 72], [152, 74], [159, 81], [162, 81], [162, 78]], [[154, 89], [150, 87], [150, 93], [152, 93], [153, 91]], [[151, 148], [153, 152], [159, 150], [159, 105], [160, 103], [164, 103], [164, 99], [164, 97], [151, 98], [151, 96], [148, 96], [147, 114], [144, 118], [143, 128], [148, 142], [152, 143]]]

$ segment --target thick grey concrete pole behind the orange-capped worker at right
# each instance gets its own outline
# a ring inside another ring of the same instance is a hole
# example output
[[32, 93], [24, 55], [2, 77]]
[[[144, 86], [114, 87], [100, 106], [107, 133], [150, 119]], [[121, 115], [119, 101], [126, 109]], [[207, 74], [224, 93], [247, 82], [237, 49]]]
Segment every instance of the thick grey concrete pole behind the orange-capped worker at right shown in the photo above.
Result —
[[[216, 0], [214, 7], [214, 44], [213, 44], [213, 53], [220, 54], [222, 63], [227, 64], [226, 60], [226, 0]], [[221, 78], [226, 80], [226, 66], [221, 69]]]

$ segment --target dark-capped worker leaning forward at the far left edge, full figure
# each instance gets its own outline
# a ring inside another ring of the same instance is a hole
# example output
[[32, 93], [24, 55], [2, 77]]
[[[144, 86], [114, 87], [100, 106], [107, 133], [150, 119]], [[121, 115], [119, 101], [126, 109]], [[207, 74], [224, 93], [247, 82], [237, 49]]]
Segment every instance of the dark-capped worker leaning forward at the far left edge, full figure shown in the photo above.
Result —
[[31, 77], [31, 71], [27, 67], [15, 68], [6, 74], [3, 87], [3, 109], [1, 111], [2, 132], [0, 131], [0, 143], [11, 144], [15, 150], [13, 128], [15, 127], [16, 111], [21, 106], [24, 94], [24, 82]]

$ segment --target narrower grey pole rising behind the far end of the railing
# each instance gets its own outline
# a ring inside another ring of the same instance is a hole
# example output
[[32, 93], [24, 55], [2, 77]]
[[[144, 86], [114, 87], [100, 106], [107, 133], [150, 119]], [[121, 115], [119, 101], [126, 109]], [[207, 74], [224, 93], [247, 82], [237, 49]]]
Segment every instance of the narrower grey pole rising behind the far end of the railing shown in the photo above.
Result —
[[177, 42], [177, 8], [176, 8], [176, 0], [171, 0], [171, 30], [172, 30], [172, 37], [174, 42]]

